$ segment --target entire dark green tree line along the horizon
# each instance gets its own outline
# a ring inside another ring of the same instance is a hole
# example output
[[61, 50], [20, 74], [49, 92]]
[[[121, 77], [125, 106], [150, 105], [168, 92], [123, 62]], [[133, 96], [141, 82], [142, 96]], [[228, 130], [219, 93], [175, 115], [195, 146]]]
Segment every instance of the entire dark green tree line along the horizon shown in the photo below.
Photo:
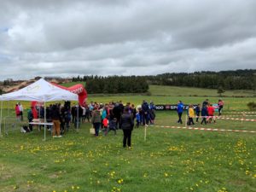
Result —
[[83, 76], [73, 82], [86, 82], [88, 93], [144, 93], [148, 84], [189, 86], [219, 90], [255, 90], [256, 70], [202, 71], [195, 73], [163, 73], [148, 76]]

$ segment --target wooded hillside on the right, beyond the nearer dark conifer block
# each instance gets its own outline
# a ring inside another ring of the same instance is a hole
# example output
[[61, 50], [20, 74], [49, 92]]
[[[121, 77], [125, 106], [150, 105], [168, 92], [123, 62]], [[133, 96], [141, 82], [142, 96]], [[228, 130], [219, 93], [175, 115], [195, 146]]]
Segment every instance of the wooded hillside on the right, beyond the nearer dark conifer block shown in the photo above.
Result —
[[221, 72], [164, 73], [148, 76], [149, 84], [189, 86], [224, 90], [255, 90], [256, 70], [236, 70]]

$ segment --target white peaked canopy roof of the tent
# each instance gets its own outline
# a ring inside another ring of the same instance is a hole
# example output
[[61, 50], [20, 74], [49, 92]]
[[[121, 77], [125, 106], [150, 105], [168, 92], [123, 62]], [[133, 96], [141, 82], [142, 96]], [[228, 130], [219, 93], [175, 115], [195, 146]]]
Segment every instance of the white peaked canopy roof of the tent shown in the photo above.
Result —
[[78, 95], [50, 84], [44, 79], [39, 79], [21, 90], [0, 96], [0, 101], [11, 100], [36, 102], [78, 101]]

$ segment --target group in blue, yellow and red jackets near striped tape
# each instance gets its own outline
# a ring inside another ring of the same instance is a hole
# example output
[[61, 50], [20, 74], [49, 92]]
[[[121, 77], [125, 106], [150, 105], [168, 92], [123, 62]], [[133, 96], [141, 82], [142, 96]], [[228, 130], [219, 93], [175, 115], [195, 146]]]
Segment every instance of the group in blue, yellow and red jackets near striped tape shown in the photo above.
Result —
[[[202, 106], [202, 107], [201, 107]], [[209, 102], [208, 99], [206, 99], [204, 102], [202, 102], [202, 105], [199, 103], [194, 108], [192, 104], [189, 104], [188, 108], [188, 121], [186, 122], [187, 125], [195, 125], [194, 118], [196, 118], [196, 122], [199, 122], [199, 119], [201, 118], [201, 125], [204, 123], [207, 125], [207, 123], [211, 123], [212, 121], [216, 123], [216, 116], [214, 116], [215, 109], [218, 109], [218, 116], [221, 115], [222, 110], [224, 108], [224, 102], [223, 100], [218, 100], [218, 106], [212, 105], [212, 103]], [[182, 115], [183, 115], [184, 105], [182, 101], [178, 101], [177, 103], [177, 116], [178, 120], [177, 123], [183, 124]]]

